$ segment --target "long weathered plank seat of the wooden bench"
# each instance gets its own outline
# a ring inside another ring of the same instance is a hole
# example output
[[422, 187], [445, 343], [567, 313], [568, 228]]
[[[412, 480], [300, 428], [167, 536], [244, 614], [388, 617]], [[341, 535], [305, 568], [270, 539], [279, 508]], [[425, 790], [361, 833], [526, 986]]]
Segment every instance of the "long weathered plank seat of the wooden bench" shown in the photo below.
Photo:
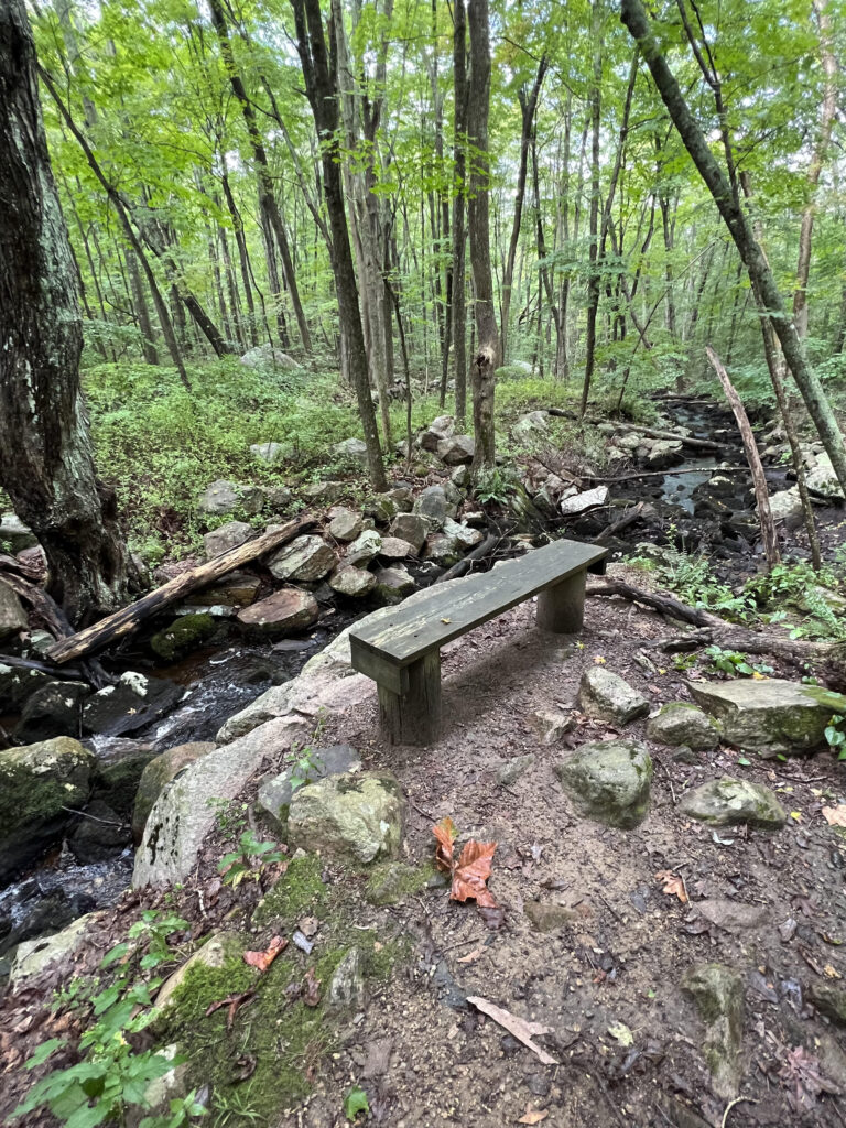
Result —
[[[353, 627], [353, 666], [370, 677], [390, 666], [402, 669], [555, 583], [587, 570], [603, 571], [607, 552], [597, 545], [554, 540], [462, 581], [458, 591], [448, 583], [433, 587], [411, 607], [400, 603], [387, 618]], [[356, 655], [363, 659], [361, 664]]]

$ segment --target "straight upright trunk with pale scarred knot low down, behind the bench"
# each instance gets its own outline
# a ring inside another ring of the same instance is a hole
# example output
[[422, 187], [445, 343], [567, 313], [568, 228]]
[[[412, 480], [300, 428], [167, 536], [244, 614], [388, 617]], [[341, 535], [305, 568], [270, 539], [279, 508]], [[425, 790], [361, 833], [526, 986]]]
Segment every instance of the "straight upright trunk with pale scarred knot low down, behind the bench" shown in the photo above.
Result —
[[490, 236], [490, 158], [487, 116], [491, 99], [491, 44], [487, 0], [473, 0], [467, 12], [470, 32], [470, 79], [467, 134], [473, 147], [468, 208], [470, 264], [476, 290], [476, 355], [473, 360], [473, 426], [476, 438], [474, 466], [493, 467], [494, 387], [500, 367], [500, 336], [493, 300]]

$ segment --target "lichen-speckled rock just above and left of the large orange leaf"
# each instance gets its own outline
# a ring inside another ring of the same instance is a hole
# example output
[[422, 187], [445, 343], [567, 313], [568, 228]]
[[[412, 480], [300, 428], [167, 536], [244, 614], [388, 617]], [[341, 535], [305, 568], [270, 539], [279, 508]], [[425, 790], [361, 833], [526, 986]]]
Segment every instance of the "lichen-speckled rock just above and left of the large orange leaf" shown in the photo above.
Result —
[[332, 776], [294, 792], [288, 812], [292, 846], [368, 864], [397, 857], [405, 800], [389, 772]]

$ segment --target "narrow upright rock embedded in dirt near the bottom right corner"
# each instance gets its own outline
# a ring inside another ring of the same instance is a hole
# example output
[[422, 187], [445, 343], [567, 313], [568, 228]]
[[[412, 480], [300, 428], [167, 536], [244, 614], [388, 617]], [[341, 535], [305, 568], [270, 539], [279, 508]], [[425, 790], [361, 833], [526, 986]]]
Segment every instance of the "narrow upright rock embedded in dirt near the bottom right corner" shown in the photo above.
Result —
[[703, 963], [687, 972], [682, 988], [705, 1023], [702, 1052], [714, 1092], [730, 1101], [743, 1076], [743, 979], [723, 963]]

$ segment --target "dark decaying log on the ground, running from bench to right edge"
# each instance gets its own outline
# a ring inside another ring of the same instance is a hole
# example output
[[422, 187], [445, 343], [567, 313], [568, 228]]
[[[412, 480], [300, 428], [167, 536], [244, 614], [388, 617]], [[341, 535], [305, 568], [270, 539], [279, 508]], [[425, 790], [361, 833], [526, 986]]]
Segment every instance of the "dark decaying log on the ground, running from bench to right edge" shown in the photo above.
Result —
[[[724, 647], [741, 650], [748, 654], [773, 654], [784, 661], [792, 662], [802, 668], [805, 663], [812, 663], [821, 668], [826, 681], [840, 690], [846, 686], [846, 644], [839, 642], [813, 642], [810, 638], [786, 638], [783, 635], [772, 634], [766, 631], [752, 631], [749, 627], [738, 626], [735, 623], [726, 623], [719, 615], [703, 610], [699, 607], [690, 607], [680, 600], [663, 592], [643, 591], [635, 588], [625, 580], [603, 576], [601, 580], [590, 581], [587, 589], [588, 596], [616, 596], [632, 602], [642, 603], [661, 615], [673, 618], [680, 623], [689, 623], [690, 626], [699, 629], [693, 633], [698, 645], [706, 646], [716, 643]], [[680, 649], [679, 640], [660, 641], [659, 645], [664, 649]]]

